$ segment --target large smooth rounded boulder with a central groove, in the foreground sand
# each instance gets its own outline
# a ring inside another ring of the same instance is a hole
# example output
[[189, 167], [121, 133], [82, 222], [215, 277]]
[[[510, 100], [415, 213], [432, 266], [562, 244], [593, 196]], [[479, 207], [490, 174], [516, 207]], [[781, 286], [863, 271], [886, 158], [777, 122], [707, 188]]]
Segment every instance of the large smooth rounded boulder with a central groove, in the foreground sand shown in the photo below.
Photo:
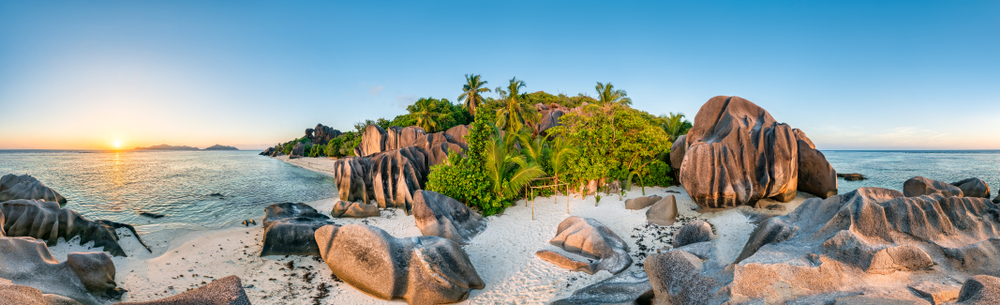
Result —
[[410, 304], [465, 300], [486, 285], [462, 247], [437, 236], [395, 238], [364, 225], [316, 230], [320, 254], [337, 278], [380, 299]]

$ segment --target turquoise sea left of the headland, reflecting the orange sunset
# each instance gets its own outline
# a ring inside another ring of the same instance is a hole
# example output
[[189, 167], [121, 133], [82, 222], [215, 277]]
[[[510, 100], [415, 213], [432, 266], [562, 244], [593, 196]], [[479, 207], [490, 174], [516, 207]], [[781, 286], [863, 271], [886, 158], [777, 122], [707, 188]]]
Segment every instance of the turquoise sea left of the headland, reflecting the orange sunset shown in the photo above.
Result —
[[38, 178], [88, 219], [141, 232], [222, 228], [260, 219], [272, 203], [337, 196], [333, 178], [256, 151], [0, 151], [0, 175], [8, 173]]

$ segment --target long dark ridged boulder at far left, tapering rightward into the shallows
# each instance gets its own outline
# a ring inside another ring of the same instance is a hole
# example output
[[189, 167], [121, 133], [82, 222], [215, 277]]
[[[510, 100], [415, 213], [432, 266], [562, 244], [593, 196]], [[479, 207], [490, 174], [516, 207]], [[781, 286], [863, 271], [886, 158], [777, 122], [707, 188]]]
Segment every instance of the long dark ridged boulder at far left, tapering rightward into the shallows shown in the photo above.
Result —
[[[3, 231], [7, 236], [29, 236], [44, 240], [54, 246], [59, 238], [65, 240], [80, 237], [80, 244], [94, 242], [94, 247], [104, 247], [104, 251], [114, 256], [127, 256], [118, 244], [118, 228], [132, 231], [139, 243], [139, 234], [131, 225], [105, 220], [90, 221], [76, 211], [61, 209], [59, 204], [39, 200], [11, 200], [0, 203], [0, 212], [6, 220]], [[149, 250], [149, 247], [146, 247]], [[152, 252], [152, 251], [150, 251]]]

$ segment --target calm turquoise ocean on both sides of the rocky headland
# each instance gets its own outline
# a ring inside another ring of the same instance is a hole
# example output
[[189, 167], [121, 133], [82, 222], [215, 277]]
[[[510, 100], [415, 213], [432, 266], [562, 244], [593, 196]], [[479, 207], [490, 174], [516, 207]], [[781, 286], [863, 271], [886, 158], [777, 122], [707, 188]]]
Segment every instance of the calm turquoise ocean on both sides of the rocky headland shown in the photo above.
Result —
[[[65, 196], [67, 208], [92, 220], [133, 224], [140, 232], [217, 229], [260, 219], [272, 203], [337, 196], [333, 178], [257, 153], [0, 150], [0, 175], [35, 176]], [[823, 153], [837, 172], [869, 178], [839, 180], [841, 194], [859, 187], [902, 190], [914, 176], [948, 183], [978, 177], [993, 186], [993, 196], [1000, 187], [1000, 151]]]

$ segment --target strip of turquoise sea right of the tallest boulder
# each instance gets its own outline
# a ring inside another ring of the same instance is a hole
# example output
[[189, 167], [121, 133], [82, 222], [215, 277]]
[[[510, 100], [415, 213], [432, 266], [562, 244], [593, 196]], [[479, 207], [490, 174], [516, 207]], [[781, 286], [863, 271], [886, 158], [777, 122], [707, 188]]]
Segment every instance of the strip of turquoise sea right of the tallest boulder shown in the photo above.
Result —
[[840, 194], [859, 187], [903, 190], [903, 182], [924, 176], [946, 183], [976, 177], [1000, 188], [1000, 151], [823, 151], [838, 173], [859, 173], [865, 181], [838, 181]]

